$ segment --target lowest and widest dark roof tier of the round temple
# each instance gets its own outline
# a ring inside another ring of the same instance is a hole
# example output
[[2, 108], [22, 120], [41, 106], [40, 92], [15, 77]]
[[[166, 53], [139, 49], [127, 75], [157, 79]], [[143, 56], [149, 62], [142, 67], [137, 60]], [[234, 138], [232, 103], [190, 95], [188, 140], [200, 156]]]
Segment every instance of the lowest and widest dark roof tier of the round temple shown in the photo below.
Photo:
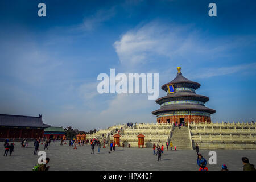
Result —
[[193, 110], [193, 111], [204, 111], [210, 114], [216, 113], [216, 110], [209, 109], [200, 104], [176, 104], [176, 105], [165, 105], [160, 109], [152, 111], [152, 114], [157, 115], [166, 111], [176, 111], [176, 110]]

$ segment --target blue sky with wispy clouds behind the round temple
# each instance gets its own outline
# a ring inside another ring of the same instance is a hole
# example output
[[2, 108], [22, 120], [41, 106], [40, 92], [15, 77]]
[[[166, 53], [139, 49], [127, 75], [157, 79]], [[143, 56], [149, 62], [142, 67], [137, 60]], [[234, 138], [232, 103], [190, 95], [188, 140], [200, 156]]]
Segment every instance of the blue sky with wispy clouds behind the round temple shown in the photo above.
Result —
[[[39, 18], [38, 4], [46, 3]], [[217, 17], [208, 5], [217, 5]], [[98, 94], [97, 76], [159, 73], [200, 82], [212, 121], [255, 121], [256, 3], [1, 1], [0, 113], [80, 130], [156, 122], [147, 94]], [[159, 90], [159, 97], [165, 96]]]

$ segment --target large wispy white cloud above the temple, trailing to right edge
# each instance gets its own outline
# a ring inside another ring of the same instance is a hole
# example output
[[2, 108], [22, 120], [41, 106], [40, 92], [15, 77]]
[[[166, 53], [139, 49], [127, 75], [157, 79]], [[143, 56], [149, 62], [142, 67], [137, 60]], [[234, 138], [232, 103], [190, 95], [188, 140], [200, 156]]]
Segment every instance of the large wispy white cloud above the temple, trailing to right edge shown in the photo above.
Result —
[[181, 59], [183, 63], [198, 63], [200, 60], [205, 62], [217, 57], [232, 57], [235, 53], [230, 53], [230, 50], [255, 40], [255, 36], [212, 39], [205, 37], [204, 32], [192, 24], [181, 26], [154, 20], [127, 31], [113, 46], [122, 64], [134, 66], [160, 62], [159, 57], [168, 59], [169, 63], [178, 63]]

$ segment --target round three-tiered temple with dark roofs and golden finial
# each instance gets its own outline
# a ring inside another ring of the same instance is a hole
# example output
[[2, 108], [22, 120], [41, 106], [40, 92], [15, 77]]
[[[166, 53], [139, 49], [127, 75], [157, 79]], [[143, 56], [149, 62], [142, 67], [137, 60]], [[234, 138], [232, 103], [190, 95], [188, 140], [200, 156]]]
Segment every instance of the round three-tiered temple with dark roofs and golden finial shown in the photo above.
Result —
[[158, 98], [155, 102], [160, 109], [152, 111], [158, 123], [211, 122], [210, 114], [216, 110], [205, 107], [209, 97], [196, 94], [201, 85], [182, 76], [181, 68], [177, 67], [177, 76], [171, 82], [164, 84], [162, 89], [167, 96]]

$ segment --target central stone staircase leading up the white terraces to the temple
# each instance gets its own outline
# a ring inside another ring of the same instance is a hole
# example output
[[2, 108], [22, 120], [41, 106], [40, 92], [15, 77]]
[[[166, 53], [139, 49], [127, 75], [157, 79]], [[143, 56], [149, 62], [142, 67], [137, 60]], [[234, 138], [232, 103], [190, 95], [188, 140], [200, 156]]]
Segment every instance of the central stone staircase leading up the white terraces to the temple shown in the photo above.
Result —
[[192, 150], [188, 127], [174, 127], [171, 142], [177, 150]]

